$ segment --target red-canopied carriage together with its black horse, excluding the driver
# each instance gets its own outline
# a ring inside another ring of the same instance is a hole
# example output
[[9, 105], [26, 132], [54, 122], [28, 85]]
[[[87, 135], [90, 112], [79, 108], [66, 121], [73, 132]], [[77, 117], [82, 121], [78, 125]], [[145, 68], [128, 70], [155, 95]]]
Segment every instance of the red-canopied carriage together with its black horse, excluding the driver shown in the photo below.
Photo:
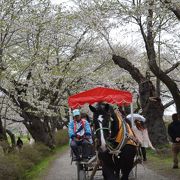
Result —
[[[96, 106], [92, 106], [95, 103]], [[93, 133], [96, 137], [96, 149], [92, 157], [88, 161], [76, 162], [77, 179], [92, 180], [96, 171], [102, 169], [106, 180], [118, 180], [120, 172], [121, 179], [128, 180], [134, 165], [137, 145], [130, 126], [118, 109], [114, 110], [111, 105], [131, 105], [132, 94], [128, 91], [97, 87], [70, 96], [68, 104], [72, 109], [89, 104], [93, 112]]]

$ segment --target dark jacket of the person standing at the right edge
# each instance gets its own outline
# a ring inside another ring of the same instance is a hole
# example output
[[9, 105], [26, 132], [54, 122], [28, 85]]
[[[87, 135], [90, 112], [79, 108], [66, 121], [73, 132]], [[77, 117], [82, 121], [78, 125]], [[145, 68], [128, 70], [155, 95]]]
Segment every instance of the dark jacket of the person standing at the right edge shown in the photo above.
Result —
[[180, 121], [173, 121], [171, 124], [169, 124], [168, 134], [173, 143], [180, 143], [176, 141], [176, 138], [180, 137]]

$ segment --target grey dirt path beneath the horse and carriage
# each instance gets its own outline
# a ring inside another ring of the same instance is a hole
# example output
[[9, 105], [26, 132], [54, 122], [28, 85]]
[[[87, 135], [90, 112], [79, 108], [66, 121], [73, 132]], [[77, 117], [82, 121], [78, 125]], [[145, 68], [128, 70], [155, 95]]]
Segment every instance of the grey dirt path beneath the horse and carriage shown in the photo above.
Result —
[[[42, 180], [77, 180], [76, 165], [73, 163], [71, 165], [71, 160], [69, 156], [69, 151], [65, 152], [63, 155], [58, 157], [48, 174], [42, 178]], [[102, 180], [100, 176], [101, 172], [98, 172], [98, 176], [95, 177], [96, 180]], [[131, 178], [132, 179], [132, 178]], [[154, 171], [148, 169], [146, 165], [139, 165], [137, 167], [137, 180], [174, 180], [171, 178], [163, 177], [158, 175]]]

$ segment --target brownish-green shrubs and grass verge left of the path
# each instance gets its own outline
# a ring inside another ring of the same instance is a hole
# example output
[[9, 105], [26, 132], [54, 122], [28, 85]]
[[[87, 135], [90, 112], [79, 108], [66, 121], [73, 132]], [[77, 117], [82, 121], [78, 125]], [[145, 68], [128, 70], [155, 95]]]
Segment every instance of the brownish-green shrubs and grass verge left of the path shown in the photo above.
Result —
[[54, 150], [41, 143], [24, 143], [20, 151], [14, 149], [8, 154], [0, 154], [0, 179], [34, 179], [48, 167], [57, 153], [66, 149], [69, 142], [67, 130], [58, 131], [55, 139], [57, 148]]

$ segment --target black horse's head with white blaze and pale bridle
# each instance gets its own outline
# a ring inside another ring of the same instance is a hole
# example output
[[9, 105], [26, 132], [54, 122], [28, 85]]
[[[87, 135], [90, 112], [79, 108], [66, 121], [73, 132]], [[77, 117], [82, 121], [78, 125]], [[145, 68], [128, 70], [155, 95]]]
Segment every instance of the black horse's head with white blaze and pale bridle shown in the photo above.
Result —
[[110, 136], [111, 107], [109, 104], [98, 103], [96, 107], [89, 106], [93, 112], [94, 128], [98, 146], [101, 151], [106, 150], [106, 139]]

